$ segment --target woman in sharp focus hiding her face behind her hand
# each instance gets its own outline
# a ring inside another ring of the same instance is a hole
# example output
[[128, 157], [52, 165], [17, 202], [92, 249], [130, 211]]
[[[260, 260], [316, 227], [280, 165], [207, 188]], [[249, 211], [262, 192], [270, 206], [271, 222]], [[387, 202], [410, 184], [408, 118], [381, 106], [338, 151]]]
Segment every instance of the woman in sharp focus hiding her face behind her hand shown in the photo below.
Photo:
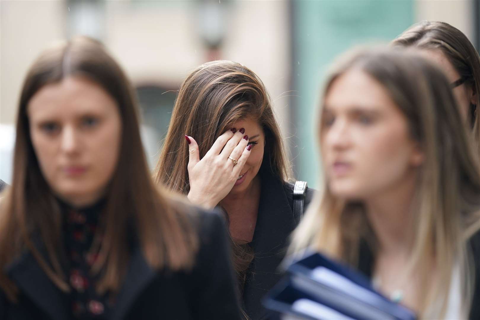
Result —
[[280, 278], [277, 266], [298, 222], [290, 177], [262, 81], [231, 61], [192, 71], [180, 87], [155, 180], [226, 211], [243, 305], [255, 320], [265, 316], [261, 299]]

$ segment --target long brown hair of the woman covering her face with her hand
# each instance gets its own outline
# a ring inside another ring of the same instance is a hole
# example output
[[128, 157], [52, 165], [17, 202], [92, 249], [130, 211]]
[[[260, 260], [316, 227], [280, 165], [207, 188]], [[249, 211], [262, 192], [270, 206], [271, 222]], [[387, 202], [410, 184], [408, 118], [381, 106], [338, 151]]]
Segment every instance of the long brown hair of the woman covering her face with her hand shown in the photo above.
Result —
[[[253, 119], [264, 130], [265, 152], [260, 170], [269, 170], [282, 181], [289, 180], [291, 168], [264, 84], [250, 69], [224, 60], [199, 66], [180, 86], [154, 180], [169, 190], [188, 194], [189, 151], [183, 136], [196, 139], [202, 158], [216, 138], [239, 119]], [[235, 244], [233, 251], [234, 268], [242, 282], [252, 254]]]

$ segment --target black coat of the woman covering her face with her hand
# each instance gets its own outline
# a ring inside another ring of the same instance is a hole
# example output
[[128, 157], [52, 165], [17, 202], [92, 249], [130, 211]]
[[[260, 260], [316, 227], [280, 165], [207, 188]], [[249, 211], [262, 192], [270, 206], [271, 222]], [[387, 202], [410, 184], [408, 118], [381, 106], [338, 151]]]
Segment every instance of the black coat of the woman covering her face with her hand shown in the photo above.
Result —
[[[252, 320], [267, 317], [262, 299], [282, 276], [278, 266], [285, 258], [289, 236], [297, 226], [293, 216], [294, 185], [265, 172], [260, 174], [262, 189], [251, 242], [254, 258], [243, 289], [243, 307]], [[307, 189], [304, 210], [313, 193], [314, 190]]]

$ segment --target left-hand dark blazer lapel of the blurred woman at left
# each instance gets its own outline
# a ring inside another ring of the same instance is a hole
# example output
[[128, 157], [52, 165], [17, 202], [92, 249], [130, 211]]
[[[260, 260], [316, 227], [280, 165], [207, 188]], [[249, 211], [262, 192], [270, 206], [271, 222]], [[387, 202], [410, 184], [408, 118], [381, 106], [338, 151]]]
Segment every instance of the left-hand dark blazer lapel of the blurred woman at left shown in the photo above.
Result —
[[[38, 243], [38, 241], [36, 241]], [[36, 248], [44, 257], [43, 245]], [[68, 294], [62, 292], [44, 273], [30, 251], [25, 251], [19, 258], [6, 267], [5, 272], [36, 306], [53, 320], [69, 319], [70, 303]]]

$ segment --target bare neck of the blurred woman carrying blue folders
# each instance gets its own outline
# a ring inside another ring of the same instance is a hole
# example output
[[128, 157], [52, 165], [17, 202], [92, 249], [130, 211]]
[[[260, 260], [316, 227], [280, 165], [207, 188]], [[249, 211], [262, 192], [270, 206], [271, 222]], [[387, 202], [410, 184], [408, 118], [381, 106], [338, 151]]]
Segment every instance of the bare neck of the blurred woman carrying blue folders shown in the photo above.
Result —
[[412, 247], [412, 224], [417, 174], [412, 172], [395, 188], [365, 201], [367, 217], [381, 253], [408, 254]]

